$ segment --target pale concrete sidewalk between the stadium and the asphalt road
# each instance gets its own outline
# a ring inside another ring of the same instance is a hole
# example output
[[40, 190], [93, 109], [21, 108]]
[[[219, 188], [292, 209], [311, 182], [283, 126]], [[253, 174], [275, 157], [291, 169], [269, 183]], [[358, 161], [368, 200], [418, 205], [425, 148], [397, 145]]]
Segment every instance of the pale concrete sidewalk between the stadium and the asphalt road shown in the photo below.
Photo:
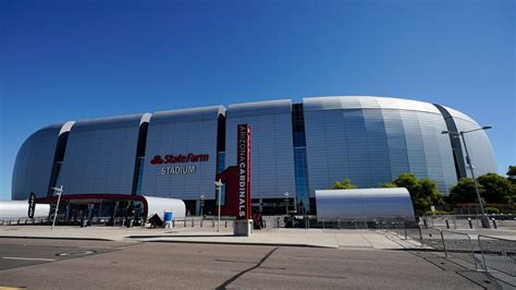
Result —
[[191, 242], [222, 244], [292, 245], [354, 250], [402, 250], [416, 247], [396, 237], [373, 230], [270, 229], [250, 237], [233, 237], [231, 228], [148, 229], [120, 227], [0, 227], [0, 238], [81, 239], [142, 242]]

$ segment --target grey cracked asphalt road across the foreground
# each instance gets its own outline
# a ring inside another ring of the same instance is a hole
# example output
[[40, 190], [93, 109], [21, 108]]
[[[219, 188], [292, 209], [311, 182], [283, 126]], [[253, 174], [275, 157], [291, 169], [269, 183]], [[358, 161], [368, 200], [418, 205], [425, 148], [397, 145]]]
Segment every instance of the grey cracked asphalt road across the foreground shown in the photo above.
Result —
[[9, 238], [0, 239], [1, 287], [500, 288], [484, 274], [417, 251]]

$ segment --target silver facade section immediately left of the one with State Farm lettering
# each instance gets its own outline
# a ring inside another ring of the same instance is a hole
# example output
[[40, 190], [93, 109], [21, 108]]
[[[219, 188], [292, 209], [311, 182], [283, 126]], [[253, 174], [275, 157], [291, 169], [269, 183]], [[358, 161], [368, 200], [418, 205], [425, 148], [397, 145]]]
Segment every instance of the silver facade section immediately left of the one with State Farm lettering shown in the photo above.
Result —
[[134, 114], [76, 122], [57, 182], [64, 194], [131, 194], [140, 119]]

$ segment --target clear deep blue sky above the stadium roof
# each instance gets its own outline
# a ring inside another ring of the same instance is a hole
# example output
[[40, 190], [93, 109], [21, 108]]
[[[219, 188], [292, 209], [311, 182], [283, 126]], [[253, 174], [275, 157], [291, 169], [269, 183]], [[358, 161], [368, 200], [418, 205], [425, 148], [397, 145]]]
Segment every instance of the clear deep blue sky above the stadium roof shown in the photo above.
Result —
[[438, 102], [515, 162], [515, 1], [0, 1], [0, 200], [54, 122], [309, 96]]

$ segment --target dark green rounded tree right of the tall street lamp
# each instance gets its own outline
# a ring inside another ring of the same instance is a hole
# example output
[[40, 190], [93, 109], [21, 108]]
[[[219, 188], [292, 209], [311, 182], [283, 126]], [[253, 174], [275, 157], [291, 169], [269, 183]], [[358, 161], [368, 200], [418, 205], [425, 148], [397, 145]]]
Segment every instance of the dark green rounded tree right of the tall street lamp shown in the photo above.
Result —
[[496, 173], [487, 173], [478, 177], [478, 183], [483, 186], [482, 197], [487, 203], [511, 203], [514, 186], [511, 181]]

